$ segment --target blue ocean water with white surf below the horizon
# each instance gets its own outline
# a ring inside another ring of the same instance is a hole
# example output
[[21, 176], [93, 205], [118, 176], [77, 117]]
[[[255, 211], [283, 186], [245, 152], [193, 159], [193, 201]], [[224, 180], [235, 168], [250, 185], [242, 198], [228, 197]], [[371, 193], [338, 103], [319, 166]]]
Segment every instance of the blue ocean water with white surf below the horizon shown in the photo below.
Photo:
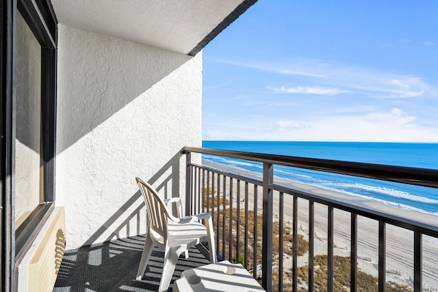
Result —
[[[438, 169], [438, 144], [381, 142], [242, 142], [204, 141], [204, 148], [259, 152], [339, 161], [377, 163]], [[203, 159], [238, 170], [261, 173], [261, 163], [203, 155]], [[438, 215], [438, 189], [274, 166], [274, 176], [338, 191], [350, 196], [378, 200], [402, 209]]]

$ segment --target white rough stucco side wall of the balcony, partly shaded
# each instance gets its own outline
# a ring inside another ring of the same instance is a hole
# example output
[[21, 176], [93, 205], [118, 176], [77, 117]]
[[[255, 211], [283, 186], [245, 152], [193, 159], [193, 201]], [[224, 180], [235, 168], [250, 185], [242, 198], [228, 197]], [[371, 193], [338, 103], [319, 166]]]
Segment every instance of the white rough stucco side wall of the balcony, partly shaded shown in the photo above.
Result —
[[58, 28], [55, 204], [67, 248], [144, 234], [135, 177], [184, 194], [179, 151], [201, 146], [202, 54]]

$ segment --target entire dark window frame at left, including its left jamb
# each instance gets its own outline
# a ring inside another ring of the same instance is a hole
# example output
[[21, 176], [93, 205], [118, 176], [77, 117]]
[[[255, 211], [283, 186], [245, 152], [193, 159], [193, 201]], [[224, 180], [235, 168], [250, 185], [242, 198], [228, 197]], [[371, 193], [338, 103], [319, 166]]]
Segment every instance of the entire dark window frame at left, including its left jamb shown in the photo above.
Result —
[[[50, 0], [3, 0], [1, 13], [1, 291], [16, 290], [16, 264], [53, 211], [55, 201], [57, 19]], [[20, 13], [41, 46], [41, 141], [43, 167], [42, 202], [15, 230], [15, 36]]]

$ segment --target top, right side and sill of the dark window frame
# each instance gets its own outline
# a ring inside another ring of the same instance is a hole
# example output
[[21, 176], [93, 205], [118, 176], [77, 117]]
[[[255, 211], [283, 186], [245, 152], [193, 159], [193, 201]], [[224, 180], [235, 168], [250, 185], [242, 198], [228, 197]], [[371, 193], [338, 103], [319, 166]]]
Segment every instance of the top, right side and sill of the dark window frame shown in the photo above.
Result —
[[51, 213], [55, 200], [55, 132], [56, 132], [56, 18], [51, 3], [46, 0], [18, 0], [18, 12], [34, 33], [41, 46], [41, 161], [43, 168], [43, 200], [15, 232], [15, 256], [27, 249], [40, 226]]

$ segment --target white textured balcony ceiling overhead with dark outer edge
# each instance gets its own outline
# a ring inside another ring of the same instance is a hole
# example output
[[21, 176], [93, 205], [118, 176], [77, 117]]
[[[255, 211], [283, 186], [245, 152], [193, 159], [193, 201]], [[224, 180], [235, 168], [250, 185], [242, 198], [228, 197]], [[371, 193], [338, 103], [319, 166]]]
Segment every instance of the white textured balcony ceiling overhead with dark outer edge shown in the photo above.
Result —
[[58, 22], [67, 27], [195, 55], [255, 1], [52, 0], [52, 4]]

